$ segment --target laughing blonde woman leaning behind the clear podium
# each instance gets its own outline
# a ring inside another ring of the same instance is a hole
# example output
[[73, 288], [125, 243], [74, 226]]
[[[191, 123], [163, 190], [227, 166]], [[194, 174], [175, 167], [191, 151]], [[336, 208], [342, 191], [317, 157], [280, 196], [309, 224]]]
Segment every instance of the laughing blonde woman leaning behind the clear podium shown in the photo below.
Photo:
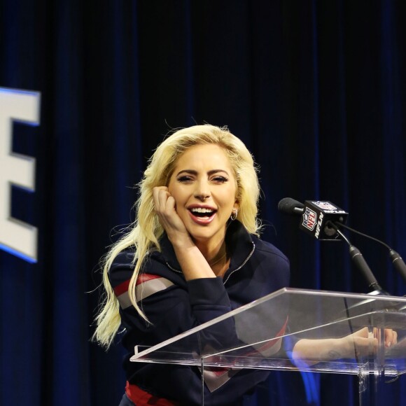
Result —
[[[258, 237], [253, 158], [225, 128], [196, 125], [167, 137], [139, 192], [137, 220], [105, 258], [94, 337], [109, 347], [124, 330], [120, 405], [200, 405], [197, 367], [131, 363], [134, 346], [158, 344], [288, 286], [288, 260]], [[204, 402], [238, 405], [266, 377], [259, 370], [207, 372]]]

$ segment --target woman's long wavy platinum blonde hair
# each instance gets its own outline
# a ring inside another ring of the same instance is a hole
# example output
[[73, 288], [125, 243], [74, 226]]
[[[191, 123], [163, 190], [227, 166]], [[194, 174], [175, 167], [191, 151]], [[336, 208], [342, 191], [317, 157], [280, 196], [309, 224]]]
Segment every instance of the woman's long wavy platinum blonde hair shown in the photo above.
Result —
[[144, 172], [144, 177], [138, 184], [139, 198], [134, 204], [136, 220], [127, 228], [123, 236], [110, 247], [102, 262], [105, 293], [102, 297], [99, 314], [96, 317], [97, 328], [93, 339], [107, 348], [113, 342], [121, 322], [120, 306], [109, 281], [109, 269], [113, 260], [125, 248], [134, 248], [134, 271], [128, 291], [133, 306], [139, 315], [147, 321], [144, 312], [137, 304], [134, 288], [142, 262], [148, 252], [160, 251], [159, 239], [164, 232], [154, 211], [153, 188], [155, 186], [167, 186], [179, 156], [187, 148], [202, 144], [216, 144], [224, 149], [237, 180], [237, 201], [239, 202], [237, 219], [248, 232], [258, 235], [260, 223], [257, 214], [260, 188], [257, 168], [244, 143], [231, 134], [227, 127], [214, 125], [195, 125], [171, 134], [153, 153]]

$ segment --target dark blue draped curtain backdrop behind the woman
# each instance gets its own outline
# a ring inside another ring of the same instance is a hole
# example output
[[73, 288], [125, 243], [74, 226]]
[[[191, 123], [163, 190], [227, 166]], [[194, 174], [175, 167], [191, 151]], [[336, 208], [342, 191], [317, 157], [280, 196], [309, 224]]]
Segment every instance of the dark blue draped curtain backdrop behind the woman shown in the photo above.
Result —
[[[41, 125], [14, 125], [36, 192], [38, 262], [0, 251], [1, 405], [118, 405], [120, 345], [90, 343], [99, 258], [146, 160], [174, 127], [228, 125], [261, 167], [263, 238], [297, 288], [368, 291], [344, 244], [302, 235], [282, 197], [321, 199], [406, 257], [404, 1], [1, 0], [0, 87], [41, 92]], [[0, 169], [1, 170], [1, 169]], [[351, 237], [393, 295], [384, 248]], [[356, 377], [281, 372], [250, 405], [356, 405]], [[404, 377], [387, 386], [401, 405]], [[302, 403], [300, 403], [302, 404]], [[248, 405], [248, 403], [247, 403]]]

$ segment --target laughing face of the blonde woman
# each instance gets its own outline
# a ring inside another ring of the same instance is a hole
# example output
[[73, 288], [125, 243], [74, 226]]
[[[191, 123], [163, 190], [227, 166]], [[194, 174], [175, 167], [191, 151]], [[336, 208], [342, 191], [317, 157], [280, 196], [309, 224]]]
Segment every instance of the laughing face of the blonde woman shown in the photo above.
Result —
[[176, 162], [168, 192], [195, 242], [207, 246], [223, 243], [226, 223], [238, 202], [235, 175], [221, 147], [188, 148]]

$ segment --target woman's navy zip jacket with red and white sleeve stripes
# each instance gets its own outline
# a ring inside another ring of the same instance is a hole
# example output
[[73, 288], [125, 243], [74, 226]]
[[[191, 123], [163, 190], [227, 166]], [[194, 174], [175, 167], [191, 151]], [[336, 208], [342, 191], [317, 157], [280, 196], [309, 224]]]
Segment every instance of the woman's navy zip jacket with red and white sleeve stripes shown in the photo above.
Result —
[[[153, 283], [160, 282], [160, 288], [152, 293], [148, 288], [136, 290], [137, 302], [151, 323], [130, 305], [125, 289], [132, 276], [134, 251], [120, 253], [110, 270], [111, 285], [120, 300], [120, 316], [125, 328], [123, 345], [129, 351], [124, 361], [127, 380], [148, 393], [182, 405], [200, 405], [202, 377], [197, 367], [133, 363], [130, 356], [134, 354], [134, 346], [153, 346], [288, 286], [289, 263], [281, 251], [248, 234], [238, 221], [228, 227], [226, 246], [231, 260], [223, 278], [186, 281], [166, 236], [160, 244], [161, 252], [148, 255], [142, 268], [150, 278], [157, 277]], [[147, 277], [148, 280], [151, 279]], [[139, 286], [144, 288], [143, 285], [147, 283], [141, 280]], [[280, 327], [276, 326], [276, 330]], [[226, 379], [218, 388], [205, 385], [204, 404], [239, 405], [242, 395], [264, 381], [267, 374], [263, 370], [239, 370], [230, 374], [231, 379]]]

